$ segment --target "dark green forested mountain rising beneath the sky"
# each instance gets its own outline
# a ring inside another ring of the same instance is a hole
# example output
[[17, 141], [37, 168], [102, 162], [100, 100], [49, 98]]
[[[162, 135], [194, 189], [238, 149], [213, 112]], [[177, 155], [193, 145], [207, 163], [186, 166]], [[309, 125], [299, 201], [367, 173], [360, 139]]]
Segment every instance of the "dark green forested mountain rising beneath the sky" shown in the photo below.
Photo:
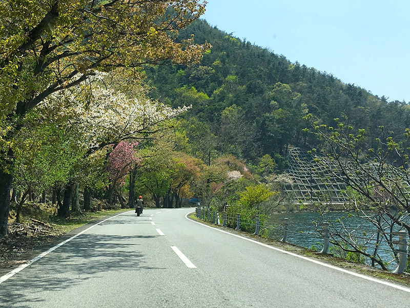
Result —
[[332, 74], [291, 63], [203, 20], [181, 31], [179, 40], [191, 33], [196, 43], [213, 46], [200, 64], [156, 66], [146, 73], [152, 98], [173, 107], [192, 105], [185, 126], [194, 155], [202, 159], [212, 151], [251, 162], [269, 154], [280, 166], [289, 145], [315, 146], [302, 131], [307, 113], [330, 126], [339, 118], [370, 136], [380, 125], [397, 134], [409, 125], [405, 102], [388, 102]]

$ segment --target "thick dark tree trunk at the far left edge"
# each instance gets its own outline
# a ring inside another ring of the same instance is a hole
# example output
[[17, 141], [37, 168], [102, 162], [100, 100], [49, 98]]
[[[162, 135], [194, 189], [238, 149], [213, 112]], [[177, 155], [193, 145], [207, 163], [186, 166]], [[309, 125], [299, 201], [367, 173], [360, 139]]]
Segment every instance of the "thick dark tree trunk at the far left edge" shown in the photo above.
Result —
[[10, 190], [13, 176], [0, 168], [0, 237], [7, 236], [10, 211]]

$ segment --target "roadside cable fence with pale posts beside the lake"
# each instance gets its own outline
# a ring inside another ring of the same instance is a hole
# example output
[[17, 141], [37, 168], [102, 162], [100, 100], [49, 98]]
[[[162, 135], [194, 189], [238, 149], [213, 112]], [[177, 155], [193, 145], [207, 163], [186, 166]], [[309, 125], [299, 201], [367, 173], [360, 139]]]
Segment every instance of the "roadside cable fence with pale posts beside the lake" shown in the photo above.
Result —
[[[366, 251], [371, 251], [373, 256], [376, 256], [379, 252], [383, 252], [385, 255], [393, 254], [392, 261], [396, 260], [398, 263], [397, 267], [392, 271], [393, 273], [404, 273], [407, 266], [407, 255], [408, 251], [410, 251], [410, 243], [407, 243], [408, 235], [405, 230], [392, 232], [391, 238], [386, 238], [381, 236], [381, 234], [383, 234], [382, 230], [363, 230], [345, 226], [337, 228], [327, 222], [323, 222], [316, 224], [315, 232], [312, 232], [306, 230], [311, 229], [313, 223], [295, 222], [290, 221], [288, 218], [281, 220], [273, 219], [272, 225], [265, 226], [260, 224], [259, 215], [241, 217], [238, 213], [235, 216], [229, 216], [226, 211], [211, 211], [209, 208], [203, 206], [196, 207], [195, 212], [197, 218], [209, 223], [230, 227], [235, 230], [242, 230], [254, 235], [263, 234], [264, 237], [281, 242], [291, 243], [289, 239], [292, 238], [292, 235], [310, 237], [311, 239], [321, 241], [321, 245], [323, 245], [319, 252], [321, 254], [329, 253], [330, 243], [334, 244], [338, 240], [347, 243], [351, 240], [355, 242], [356, 245], [366, 247]], [[391, 263], [392, 261], [386, 263]]]

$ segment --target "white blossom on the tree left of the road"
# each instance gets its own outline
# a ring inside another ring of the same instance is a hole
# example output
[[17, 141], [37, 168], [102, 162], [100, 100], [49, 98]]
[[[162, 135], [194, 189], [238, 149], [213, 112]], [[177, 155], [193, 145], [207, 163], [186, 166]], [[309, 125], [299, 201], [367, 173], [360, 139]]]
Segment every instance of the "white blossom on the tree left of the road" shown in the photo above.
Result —
[[88, 148], [140, 138], [190, 108], [172, 108], [151, 101], [144, 93], [130, 97], [107, 87], [101, 82], [104, 76], [105, 73], [98, 73], [90, 84], [53, 93], [39, 105], [53, 109], [55, 117], [67, 117], [68, 126], [79, 131], [79, 140]]

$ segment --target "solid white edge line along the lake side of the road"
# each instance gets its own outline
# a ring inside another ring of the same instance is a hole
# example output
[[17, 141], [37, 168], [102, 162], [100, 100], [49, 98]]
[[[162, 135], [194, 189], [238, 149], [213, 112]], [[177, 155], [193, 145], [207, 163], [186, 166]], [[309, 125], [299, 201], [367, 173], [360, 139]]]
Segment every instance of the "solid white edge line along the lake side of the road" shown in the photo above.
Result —
[[[191, 212], [191, 213], [194, 213], [194, 212]], [[218, 228], [214, 228], [214, 227], [211, 227], [211, 226], [207, 226], [207, 225], [205, 225], [205, 224], [203, 224], [203, 223], [200, 223], [200, 222], [194, 221], [194, 220], [192, 220], [192, 219], [189, 219], [189, 218], [188, 218], [188, 215], [191, 214], [191, 213], [188, 213], [187, 215], [185, 215], [185, 218], [188, 219], [189, 221], [192, 221], [192, 222], [194, 222], [194, 223], [197, 223], [197, 224], [199, 224], [199, 225], [201, 225], [201, 226], [208, 227], [208, 228], [211, 228], [211, 229], [213, 229], [213, 230], [216, 230], [216, 231], [219, 231], [219, 232], [222, 232], [222, 233], [226, 233], [226, 234], [235, 236], [235, 237], [237, 237], [237, 238], [240, 238], [240, 239], [242, 239], [242, 240], [247, 240], [247, 241], [250, 241], [250, 242], [252, 242], [252, 243], [261, 245], [261, 246], [265, 246], [265, 247], [267, 247], [267, 248], [273, 249], [273, 250], [275, 250], [275, 251], [278, 251], [278, 252], [281, 252], [281, 253], [284, 253], [284, 254], [287, 254], [287, 255], [294, 256], [294, 257], [296, 257], [296, 258], [300, 258], [300, 259], [303, 259], [303, 260], [306, 260], [306, 261], [309, 261], [309, 262], [313, 262], [313, 263], [316, 263], [316, 264], [319, 264], [319, 265], [322, 265], [322, 266], [325, 266], [325, 267], [329, 267], [329, 268], [335, 269], [336, 271], [339, 271], [339, 272], [343, 272], [343, 273], [346, 273], [346, 274], [349, 274], [349, 275], [352, 275], [352, 276], [356, 276], [356, 277], [363, 278], [363, 279], [366, 279], [366, 280], [370, 280], [370, 281], [373, 281], [373, 282], [376, 282], [376, 283], [380, 283], [380, 284], [384, 284], [384, 285], [387, 285], [387, 286], [391, 286], [391, 287], [397, 288], [398, 290], [401, 290], [401, 291], [405, 291], [405, 292], [409, 292], [409, 293], [410, 293], [410, 288], [407, 288], [407, 287], [404, 287], [404, 286], [401, 286], [401, 285], [397, 285], [397, 284], [390, 283], [390, 282], [387, 282], [387, 281], [383, 281], [383, 280], [379, 280], [379, 279], [376, 279], [376, 278], [372, 278], [372, 277], [364, 276], [364, 275], [357, 274], [357, 273], [354, 273], [354, 272], [350, 272], [350, 271], [347, 271], [346, 269], [343, 269], [343, 268], [340, 268], [340, 267], [337, 267], [337, 266], [333, 266], [333, 265], [330, 265], [330, 264], [326, 264], [326, 263], [323, 263], [323, 262], [320, 262], [320, 261], [317, 261], [317, 260], [314, 260], [314, 259], [310, 259], [310, 258], [308, 258], [308, 257], [296, 255], [296, 254], [294, 254], [294, 253], [284, 251], [284, 250], [282, 250], [282, 249], [280, 249], [280, 248], [276, 248], [276, 247], [273, 247], [273, 246], [270, 246], [270, 245], [267, 245], [267, 244], [263, 244], [263, 243], [260, 243], [260, 242], [258, 242], [258, 241], [255, 241], [255, 240], [245, 238], [245, 237], [240, 236], [240, 235], [236, 235], [236, 234], [233, 234], [233, 233], [224, 231], [224, 230], [220, 230], [220, 229], [218, 229]]]

